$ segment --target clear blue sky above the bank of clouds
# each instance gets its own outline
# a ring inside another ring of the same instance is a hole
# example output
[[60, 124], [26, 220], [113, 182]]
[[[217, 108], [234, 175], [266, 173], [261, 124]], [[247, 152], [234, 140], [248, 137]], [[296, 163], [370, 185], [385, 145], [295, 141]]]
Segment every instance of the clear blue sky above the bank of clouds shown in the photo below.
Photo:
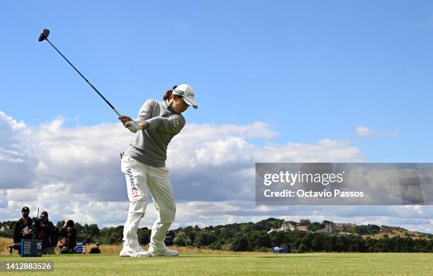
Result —
[[277, 132], [245, 137], [253, 146], [332, 139], [364, 161], [432, 162], [431, 1], [7, 1], [0, 23], [0, 110], [30, 127], [117, 122], [37, 42], [49, 28], [125, 115], [187, 83], [200, 105], [187, 124]]

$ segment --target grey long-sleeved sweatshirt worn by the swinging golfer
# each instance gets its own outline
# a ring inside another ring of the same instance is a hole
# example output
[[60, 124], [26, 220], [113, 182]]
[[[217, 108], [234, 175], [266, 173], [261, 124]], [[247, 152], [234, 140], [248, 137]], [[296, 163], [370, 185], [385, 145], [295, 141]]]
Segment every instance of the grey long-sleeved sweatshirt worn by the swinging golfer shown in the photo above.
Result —
[[145, 122], [129, 144], [126, 156], [154, 167], [165, 167], [168, 143], [185, 126], [185, 117], [175, 113], [168, 100], [146, 100], [135, 122]]

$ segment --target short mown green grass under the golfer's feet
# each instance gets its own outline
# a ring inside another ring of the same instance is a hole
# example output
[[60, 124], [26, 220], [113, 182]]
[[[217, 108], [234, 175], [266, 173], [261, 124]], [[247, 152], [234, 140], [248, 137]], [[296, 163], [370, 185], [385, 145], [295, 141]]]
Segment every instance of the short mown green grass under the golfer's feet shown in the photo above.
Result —
[[[52, 260], [43, 275], [433, 275], [432, 253], [183, 253], [175, 258], [117, 255], [53, 255], [1, 261]], [[42, 275], [29, 272], [30, 275]], [[23, 272], [0, 272], [24, 275]]]

